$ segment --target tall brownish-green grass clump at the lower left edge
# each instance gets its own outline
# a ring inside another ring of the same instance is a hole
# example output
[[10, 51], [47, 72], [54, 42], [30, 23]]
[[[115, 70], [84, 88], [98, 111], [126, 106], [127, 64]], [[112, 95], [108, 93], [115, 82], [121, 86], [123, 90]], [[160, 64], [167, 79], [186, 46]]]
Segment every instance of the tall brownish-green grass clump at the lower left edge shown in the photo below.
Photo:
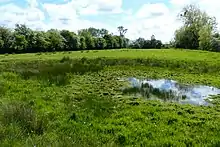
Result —
[[26, 134], [42, 135], [46, 130], [46, 121], [39, 117], [36, 112], [27, 104], [13, 102], [1, 105], [0, 120], [4, 126], [17, 124]]

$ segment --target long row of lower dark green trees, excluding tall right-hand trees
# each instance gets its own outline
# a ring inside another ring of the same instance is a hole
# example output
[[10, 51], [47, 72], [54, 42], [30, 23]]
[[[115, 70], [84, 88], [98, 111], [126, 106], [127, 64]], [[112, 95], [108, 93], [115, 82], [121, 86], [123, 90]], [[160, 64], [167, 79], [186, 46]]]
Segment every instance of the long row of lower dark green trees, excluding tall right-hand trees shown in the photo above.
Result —
[[93, 49], [161, 48], [162, 42], [139, 38], [131, 41], [125, 37], [127, 29], [118, 27], [120, 35], [102, 28], [87, 28], [77, 31], [50, 29], [36, 31], [24, 24], [15, 29], [0, 27], [0, 53], [36, 53], [53, 51], [78, 51]]

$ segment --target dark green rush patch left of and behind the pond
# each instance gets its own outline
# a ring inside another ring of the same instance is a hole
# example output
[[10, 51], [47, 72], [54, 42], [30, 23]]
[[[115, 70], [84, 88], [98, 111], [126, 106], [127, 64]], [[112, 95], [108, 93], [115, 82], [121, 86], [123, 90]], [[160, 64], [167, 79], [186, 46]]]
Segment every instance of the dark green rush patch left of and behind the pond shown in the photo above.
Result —
[[13, 67], [12, 70], [19, 73], [24, 79], [38, 78], [49, 84], [61, 86], [69, 83], [69, 73], [84, 74], [86, 72], [97, 72], [103, 68], [100, 64], [89, 64], [84, 58], [74, 61], [65, 56], [60, 62], [20, 63], [16, 69]]

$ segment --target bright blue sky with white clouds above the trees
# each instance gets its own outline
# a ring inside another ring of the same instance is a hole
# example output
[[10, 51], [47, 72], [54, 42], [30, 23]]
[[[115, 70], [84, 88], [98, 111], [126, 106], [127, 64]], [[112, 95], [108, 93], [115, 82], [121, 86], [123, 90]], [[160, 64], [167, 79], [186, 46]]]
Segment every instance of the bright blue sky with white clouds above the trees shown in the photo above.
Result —
[[187, 4], [199, 5], [220, 24], [218, 0], [0, 0], [0, 25], [71, 31], [95, 27], [114, 34], [124, 26], [129, 39], [155, 35], [169, 42], [181, 26], [177, 15]]

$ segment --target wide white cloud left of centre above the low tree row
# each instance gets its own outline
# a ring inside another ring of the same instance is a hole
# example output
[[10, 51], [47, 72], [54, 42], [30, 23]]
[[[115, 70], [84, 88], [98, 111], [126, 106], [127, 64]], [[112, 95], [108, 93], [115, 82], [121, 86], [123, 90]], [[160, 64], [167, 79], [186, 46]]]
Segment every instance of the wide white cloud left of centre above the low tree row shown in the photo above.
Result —
[[[114, 2], [114, 1], [113, 1]], [[64, 4], [43, 4], [44, 9], [50, 17], [50, 22], [48, 23], [48, 28], [58, 28], [58, 29], [69, 29], [72, 31], [77, 31], [82, 28], [96, 27], [96, 28], [106, 28], [113, 30], [112, 26], [106, 23], [88, 21], [81, 19], [81, 15], [96, 15], [100, 14], [100, 8], [109, 8], [109, 12], [113, 13], [116, 10], [109, 1], [110, 6], [102, 6], [100, 0], [93, 0], [93, 3], [88, 0], [72, 0]], [[110, 9], [111, 8], [111, 9]], [[110, 11], [111, 10], [111, 11]]]

